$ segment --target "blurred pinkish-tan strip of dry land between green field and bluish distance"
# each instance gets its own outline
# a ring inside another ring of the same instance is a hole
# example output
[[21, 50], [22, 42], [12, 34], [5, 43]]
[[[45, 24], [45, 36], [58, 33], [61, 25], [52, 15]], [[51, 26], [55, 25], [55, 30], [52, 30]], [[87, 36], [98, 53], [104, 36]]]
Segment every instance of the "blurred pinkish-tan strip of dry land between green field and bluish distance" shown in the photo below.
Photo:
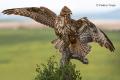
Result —
[[[97, 27], [104, 30], [120, 30], [120, 20], [91, 20]], [[46, 27], [35, 21], [25, 21], [25, 22], [0, 22], [0, 29], [38, 29]]]

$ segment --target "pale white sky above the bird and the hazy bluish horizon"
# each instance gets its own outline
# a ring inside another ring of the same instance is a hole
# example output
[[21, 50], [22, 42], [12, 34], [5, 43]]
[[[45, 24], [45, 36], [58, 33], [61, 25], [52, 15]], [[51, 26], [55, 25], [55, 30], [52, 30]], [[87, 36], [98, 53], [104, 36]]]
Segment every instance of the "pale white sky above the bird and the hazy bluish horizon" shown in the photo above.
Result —
[[57, 14], [63, 6], [68, 6], [73, 15], [88, 15], [120, 10], [120, 0], [0, 0], [0, 12], [10, 8], [40, 6], [47, 7]]

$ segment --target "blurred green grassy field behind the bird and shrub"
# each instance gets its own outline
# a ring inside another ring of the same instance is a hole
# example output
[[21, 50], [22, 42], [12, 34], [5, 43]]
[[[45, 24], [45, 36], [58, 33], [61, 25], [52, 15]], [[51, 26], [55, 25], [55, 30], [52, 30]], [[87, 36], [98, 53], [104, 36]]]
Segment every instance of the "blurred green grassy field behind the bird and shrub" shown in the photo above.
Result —
[[[83, 80], [120, 80], [120, 32], [106, 33], [114, 53], [93, 43], [88, 65], [72, 60]], [[59, 60], [61, 55], [50, 42], [54, 38], [51, 29], [0, 30], [0, 80], [33, 80], [36, 64], [46, 63], [52, 55]]]

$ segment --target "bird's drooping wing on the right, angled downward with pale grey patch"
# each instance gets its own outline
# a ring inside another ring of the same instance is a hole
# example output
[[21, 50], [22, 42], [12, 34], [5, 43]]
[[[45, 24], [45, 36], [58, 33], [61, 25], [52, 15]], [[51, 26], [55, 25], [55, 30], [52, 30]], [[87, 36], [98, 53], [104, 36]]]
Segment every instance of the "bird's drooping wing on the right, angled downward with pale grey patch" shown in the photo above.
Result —
[[83, 43], [97, 42], [100, 46], [106, 47], [111, 52], [115, 50], [113, 43], [107, 35], [87, 18], [79, 19], [78, 22], [81, 23], [79, 35]]

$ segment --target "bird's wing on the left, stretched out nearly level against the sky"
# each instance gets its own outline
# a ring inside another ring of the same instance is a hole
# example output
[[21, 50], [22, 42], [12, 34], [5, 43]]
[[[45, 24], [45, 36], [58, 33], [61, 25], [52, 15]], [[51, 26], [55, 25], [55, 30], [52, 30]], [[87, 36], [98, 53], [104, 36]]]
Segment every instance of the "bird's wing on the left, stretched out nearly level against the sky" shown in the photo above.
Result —
[[14, 15], [30, 17], [35, 21], [50, 27], [54, 27], [54, 20], [56, 18], [56, 14], [45, 7], [13, 8], [13, 9], [4, 10], [2, 13], [7, 15], [14, 14]]

